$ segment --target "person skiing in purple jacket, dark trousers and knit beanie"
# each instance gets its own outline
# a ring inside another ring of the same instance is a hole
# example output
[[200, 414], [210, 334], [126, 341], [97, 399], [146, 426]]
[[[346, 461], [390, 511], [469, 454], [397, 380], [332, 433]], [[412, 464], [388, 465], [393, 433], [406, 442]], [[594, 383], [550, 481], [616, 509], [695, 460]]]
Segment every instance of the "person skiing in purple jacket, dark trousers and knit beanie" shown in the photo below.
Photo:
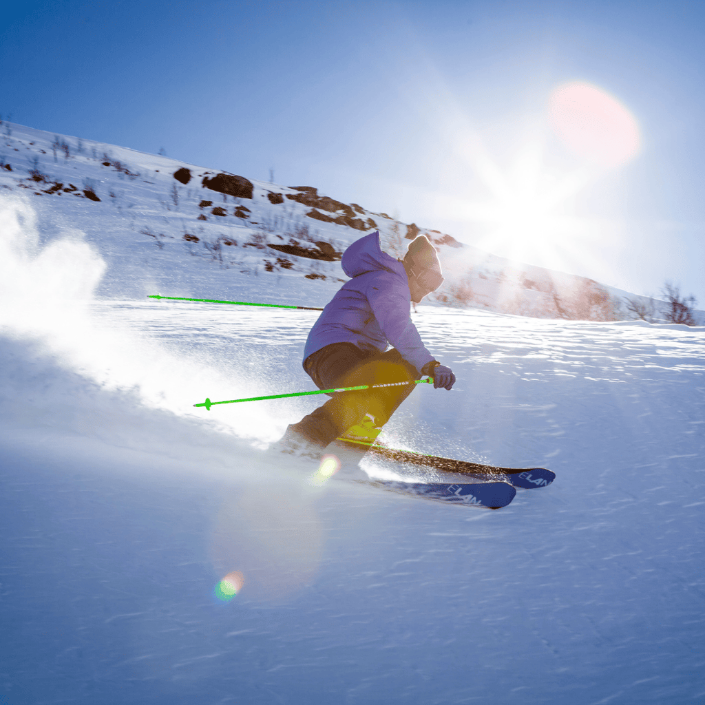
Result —
[[[434, 388], [452, 388], [455, 374], [429, 353], [410, 317], [411, 302], [419, 303], [443, 283], [429, 240], [419, 235], [403, 259], [394, 259], [381, 250], [379, 231], [374, 231], [343, 252], [341, 266], [350, 281], [323, 309], [304, 348], [303, 368], [314, 384], [333, 389], [428, 375]], [[361, 443], [364, 453], [414, 388], [404, 384], [329, 393], [324, 405], [288, 426], [276, 448], [320, 458], [341, 437]]]

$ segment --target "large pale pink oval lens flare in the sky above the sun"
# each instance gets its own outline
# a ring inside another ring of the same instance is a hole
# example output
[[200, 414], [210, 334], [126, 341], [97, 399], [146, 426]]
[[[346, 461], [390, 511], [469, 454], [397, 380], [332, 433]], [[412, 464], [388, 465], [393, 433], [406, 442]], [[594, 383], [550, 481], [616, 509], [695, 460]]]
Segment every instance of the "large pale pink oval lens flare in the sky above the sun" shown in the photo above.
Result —
[[548, 100], [548, 114], [563, 145], [592, 164], [625, 164], [641, 147], [637, 118], [618, 99], [589, 83], [556, 87]]

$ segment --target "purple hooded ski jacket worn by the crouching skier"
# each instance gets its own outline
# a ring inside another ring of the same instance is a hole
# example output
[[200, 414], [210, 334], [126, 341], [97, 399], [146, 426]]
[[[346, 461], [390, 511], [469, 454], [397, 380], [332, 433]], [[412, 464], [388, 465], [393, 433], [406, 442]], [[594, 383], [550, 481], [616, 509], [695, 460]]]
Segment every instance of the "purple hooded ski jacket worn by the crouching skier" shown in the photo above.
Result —
[[374, 231], [343, 252], [341, 265], [352, 278], [309, 332], [304, 360], [331, 343], [353, 343], [370, 353], [384, 353], [391, 344], [420, 374], [434, 357], [411, 322], [411, 292], [403, 263], [382, 252], [379, 231]]

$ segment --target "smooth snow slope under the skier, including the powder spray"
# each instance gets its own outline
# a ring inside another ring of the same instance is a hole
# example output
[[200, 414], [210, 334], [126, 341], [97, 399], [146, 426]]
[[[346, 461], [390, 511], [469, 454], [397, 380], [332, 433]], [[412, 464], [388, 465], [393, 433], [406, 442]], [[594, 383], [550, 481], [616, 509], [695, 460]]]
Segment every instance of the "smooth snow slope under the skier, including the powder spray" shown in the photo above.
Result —
[[704, 698], [705, 329], [419, 306], [458, 383], [417, 389], [386, 440], [556, 482], [496, 512], [313, 488], [261, 449], [315, 398], [192, 404], [312, 388], [316, 312], [137, 297], [149, 273], [260, 292], [49, 198], [0, 202], [0, 702]]

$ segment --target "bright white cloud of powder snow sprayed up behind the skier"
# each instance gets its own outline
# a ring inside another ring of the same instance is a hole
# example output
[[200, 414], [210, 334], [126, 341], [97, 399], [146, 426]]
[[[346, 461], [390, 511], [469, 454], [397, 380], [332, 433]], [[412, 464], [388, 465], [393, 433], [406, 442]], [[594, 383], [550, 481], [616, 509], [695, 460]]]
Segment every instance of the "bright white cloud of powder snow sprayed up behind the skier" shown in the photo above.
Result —
[[[167, 350], [149, 331], [116, 319], [95, 295], [106, 270], [99, 250], [76, 228], [56, 232], [55, 222], [40, 221], [26, 197], [0, 195], [0, 336], [32, 341], [52, 364], [92, 381], [106, 418], [114, 414], [115, 398], [102, 392], [114, 391], [151, 410], [196, 414], [190, 399], [199, 389], [226, 386], [231, 376], [202, 355]], [[257, 393], [246, 383], [238, 386]], [[99, 420], [97, 407], [85, 412], [86, 423], [114, 425]], [[216, 427], [262, 440], [276, 434], [265, 410], [221, 417]]]

